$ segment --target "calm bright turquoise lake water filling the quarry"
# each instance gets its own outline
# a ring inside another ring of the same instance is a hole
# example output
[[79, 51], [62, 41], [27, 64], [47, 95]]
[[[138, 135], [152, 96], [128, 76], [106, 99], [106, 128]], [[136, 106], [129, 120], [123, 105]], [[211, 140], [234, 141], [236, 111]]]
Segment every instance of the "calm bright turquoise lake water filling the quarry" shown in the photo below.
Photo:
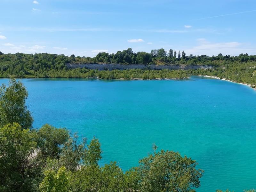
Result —
[[256, 91], [247, 86], [204, 77], [22, 82], [34, 126], [99, 138], [101, 164], [117, 161], [127, 170], [156, 143], [197, 160], [205, 171], [197, 191], [256, 188]]

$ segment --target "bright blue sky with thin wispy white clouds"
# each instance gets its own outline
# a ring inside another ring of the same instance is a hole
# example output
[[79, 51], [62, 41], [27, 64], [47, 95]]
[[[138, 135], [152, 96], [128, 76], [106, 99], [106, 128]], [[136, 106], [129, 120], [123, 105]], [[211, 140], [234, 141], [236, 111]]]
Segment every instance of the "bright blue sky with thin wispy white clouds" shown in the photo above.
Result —
[[1, 0], [0, 51], [256, 55], [255, 0]]

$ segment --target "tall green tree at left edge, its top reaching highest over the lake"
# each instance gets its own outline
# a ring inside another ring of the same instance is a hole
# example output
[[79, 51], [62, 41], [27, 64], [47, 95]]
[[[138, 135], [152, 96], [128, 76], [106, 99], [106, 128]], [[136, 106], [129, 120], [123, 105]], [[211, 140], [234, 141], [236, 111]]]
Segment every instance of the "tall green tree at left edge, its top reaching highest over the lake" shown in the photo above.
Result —
[[0, 87], [0, 127], [19, 123], [24, 129], [32, 127], [33, 118], [26, 106], [28, 92], [20, 81], [11, 77], [9, 86]]

